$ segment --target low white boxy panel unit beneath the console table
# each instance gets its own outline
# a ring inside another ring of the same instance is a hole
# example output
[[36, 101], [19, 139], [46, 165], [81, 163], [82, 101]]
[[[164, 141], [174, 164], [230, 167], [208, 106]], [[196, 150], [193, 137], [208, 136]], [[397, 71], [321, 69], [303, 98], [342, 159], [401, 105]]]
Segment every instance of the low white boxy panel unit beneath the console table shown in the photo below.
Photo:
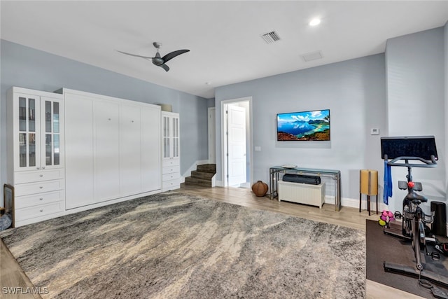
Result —
[[279, 181], [279, 202], [297, 202], [322, 208], [325, 202], [325, 183], [310, 185], [307, 183], [292, 183]]

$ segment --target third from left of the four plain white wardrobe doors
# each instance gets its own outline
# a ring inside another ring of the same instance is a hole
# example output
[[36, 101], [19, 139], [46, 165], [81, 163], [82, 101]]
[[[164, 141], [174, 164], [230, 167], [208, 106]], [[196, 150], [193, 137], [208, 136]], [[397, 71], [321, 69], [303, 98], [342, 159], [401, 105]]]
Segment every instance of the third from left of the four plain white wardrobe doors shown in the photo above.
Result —
[[120, 110], [121, 195], [141, 192], [140, 107], [122, 105]]

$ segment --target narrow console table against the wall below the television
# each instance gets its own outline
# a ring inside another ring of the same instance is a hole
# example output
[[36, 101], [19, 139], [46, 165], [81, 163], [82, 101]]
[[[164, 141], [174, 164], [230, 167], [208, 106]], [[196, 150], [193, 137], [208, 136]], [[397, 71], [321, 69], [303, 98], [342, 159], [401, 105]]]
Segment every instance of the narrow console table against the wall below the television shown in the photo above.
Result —
[[333, 169], [314, 169], [314, 168], [285, 168], [274, 166], [269, 168], [269, 190], [271, 191], [271, 200], [279, 196], [278, 181], [279, 174], [309, 174], [314, 176], [326, 176], [335, 180], [335, 210], [341, 209], [341, 171]]

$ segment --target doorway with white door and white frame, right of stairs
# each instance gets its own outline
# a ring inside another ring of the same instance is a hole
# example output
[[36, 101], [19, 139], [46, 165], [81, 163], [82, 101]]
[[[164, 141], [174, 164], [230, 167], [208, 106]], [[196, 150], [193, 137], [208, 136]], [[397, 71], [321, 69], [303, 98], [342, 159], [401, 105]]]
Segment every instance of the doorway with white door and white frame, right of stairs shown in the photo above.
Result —
[[222, 102], [224, 186], [250, 188], [252, 177], [251, 97]]

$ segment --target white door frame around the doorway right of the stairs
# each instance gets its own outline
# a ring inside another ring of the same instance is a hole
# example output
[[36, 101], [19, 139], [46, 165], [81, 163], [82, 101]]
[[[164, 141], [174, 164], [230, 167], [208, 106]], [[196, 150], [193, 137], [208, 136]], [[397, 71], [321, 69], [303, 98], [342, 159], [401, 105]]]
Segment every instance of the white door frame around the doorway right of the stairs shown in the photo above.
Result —
[[223, 186], [228, 187], [228, 159], [227, 159], [227, 107], [230, 104], [239, 102], [248, 102], [248, 134], [246, 134], [246, 142], [248, 142], [248, 152], [246, 153], [246, 163], [249, 165], [249, 183], [253, 183], [253, 132], [252, 132], [252, 97], [241, 97], [237, 99], [226, 99], [221, 101], [221, 174], [223, 178]]

